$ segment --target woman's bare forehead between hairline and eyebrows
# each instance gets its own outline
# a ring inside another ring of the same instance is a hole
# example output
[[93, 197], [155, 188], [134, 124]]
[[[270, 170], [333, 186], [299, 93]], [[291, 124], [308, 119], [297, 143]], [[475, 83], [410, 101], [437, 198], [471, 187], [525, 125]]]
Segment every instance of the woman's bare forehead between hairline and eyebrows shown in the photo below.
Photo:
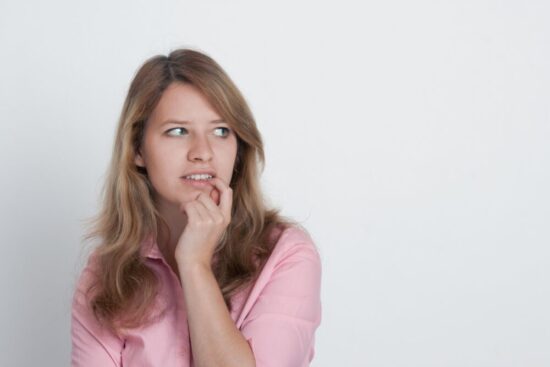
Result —
[[206, 96], [194, 85], [172, 83], [162, 93], [149, 120], [151, 124], [163, 124], [167, 120], [207, 123], [220, 120], [221, 116]]

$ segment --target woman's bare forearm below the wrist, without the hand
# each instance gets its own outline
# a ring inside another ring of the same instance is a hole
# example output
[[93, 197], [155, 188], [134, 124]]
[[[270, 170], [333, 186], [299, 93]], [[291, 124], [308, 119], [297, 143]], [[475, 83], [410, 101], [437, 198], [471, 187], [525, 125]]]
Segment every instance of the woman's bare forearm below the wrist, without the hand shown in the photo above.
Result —
[[178, 268], [195, 366], [255, 366], [254, 354], [231, 319], [211, 269], [203, 264]]

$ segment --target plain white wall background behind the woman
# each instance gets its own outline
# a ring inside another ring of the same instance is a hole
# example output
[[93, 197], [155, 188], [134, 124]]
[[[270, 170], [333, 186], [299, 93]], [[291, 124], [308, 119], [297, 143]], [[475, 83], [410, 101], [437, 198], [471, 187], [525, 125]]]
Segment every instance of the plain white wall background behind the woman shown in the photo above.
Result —
[[323, 259], [314, 367], [550, 365], [550, 3], [0, 3], [0, 365], [69, 364], [144, 60], [216, 59]]

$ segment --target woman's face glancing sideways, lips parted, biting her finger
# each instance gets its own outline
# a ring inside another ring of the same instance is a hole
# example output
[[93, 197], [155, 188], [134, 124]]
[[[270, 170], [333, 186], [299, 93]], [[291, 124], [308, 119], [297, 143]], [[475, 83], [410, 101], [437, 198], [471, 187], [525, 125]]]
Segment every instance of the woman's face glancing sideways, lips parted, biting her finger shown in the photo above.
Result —
[[157, 205], [179, 208], [214, 190], [208, 180], [185, 176], [209, 172], [229, 185], [236, 156], [235, 133], [206, 97], [193, 85], [172, 83], [145, 124], [135, 164], [147, 169]]

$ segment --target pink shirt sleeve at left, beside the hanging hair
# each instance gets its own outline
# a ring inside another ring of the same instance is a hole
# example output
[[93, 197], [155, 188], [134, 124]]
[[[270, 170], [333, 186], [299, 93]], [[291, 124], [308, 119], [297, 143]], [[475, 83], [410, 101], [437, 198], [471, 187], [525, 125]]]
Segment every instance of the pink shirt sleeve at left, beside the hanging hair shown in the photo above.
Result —
[[85, 292], [94, 275], [92, 259], [93, 257], [90, 257], [82, 271], [73, 296], [71, 366], [121, 367], [124, 341], [102, 328], [87, 304]]

